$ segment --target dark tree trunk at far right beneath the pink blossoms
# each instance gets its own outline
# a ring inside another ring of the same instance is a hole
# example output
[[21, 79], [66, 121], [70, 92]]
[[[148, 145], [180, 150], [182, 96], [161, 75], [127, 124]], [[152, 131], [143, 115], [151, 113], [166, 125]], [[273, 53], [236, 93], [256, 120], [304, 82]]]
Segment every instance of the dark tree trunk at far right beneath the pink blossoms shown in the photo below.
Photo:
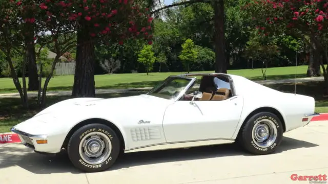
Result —
[[309, 67], [308, 71], [306, 72], [307, 77], [318, 77], [321, 76], [320, 71], [320, 53], [318, 48], [315, 46], [310, 48], [310, 58], [309, 58]]

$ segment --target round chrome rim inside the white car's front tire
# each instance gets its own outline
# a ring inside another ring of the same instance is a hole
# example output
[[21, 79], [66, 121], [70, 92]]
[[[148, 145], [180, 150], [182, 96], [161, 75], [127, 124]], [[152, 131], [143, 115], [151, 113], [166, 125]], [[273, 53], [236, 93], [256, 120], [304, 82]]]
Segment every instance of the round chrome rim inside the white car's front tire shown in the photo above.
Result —
[[105, 162], [112, 151], [109, 137], [101, 132], [91, 132], [80, 141], [78, 152], [84, 161], [91, 165]]

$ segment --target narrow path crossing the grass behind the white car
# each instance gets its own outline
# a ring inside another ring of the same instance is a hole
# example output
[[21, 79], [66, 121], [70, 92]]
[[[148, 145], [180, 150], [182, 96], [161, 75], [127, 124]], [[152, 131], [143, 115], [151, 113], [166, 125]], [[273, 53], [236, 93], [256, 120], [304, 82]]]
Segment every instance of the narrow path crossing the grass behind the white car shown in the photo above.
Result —
[[[261, 80], [254, 81], [259, 84], [283, 84], [283, 83], [302, 83], [302, 82], [312, 82], [312, 81], [323, 81], [323, 77], [308, 77], [308, 78], [299, 78], [299, 79], [282, 79], [282, 80]], [[128, 89], [96, 89], [96, 94], [109, 94], [109, 93], [133, 93], [137, 91], [150, 90], [152, 87], [142, 87], [142, 88], [128, 88]], [[28, 97], [37, 97], [37, 92], [29, 92], [27, 93]], [[47, 91], [47, 96], [70, 96], [72, 95], [72, 91]], [[19, 98], [18, 93], [10, 93], [10, 94], [0, 94], [0, 98]]]

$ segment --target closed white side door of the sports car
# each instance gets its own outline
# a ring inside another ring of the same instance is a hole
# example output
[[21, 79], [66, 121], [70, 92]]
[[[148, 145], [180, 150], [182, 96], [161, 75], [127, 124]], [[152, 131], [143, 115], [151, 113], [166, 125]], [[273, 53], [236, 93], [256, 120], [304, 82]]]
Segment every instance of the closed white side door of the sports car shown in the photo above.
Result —
[[222, 101], [176, 101], [163, 117], [168, 143], [211, 139], [231, 139], [243, 106], [243, 98]]

